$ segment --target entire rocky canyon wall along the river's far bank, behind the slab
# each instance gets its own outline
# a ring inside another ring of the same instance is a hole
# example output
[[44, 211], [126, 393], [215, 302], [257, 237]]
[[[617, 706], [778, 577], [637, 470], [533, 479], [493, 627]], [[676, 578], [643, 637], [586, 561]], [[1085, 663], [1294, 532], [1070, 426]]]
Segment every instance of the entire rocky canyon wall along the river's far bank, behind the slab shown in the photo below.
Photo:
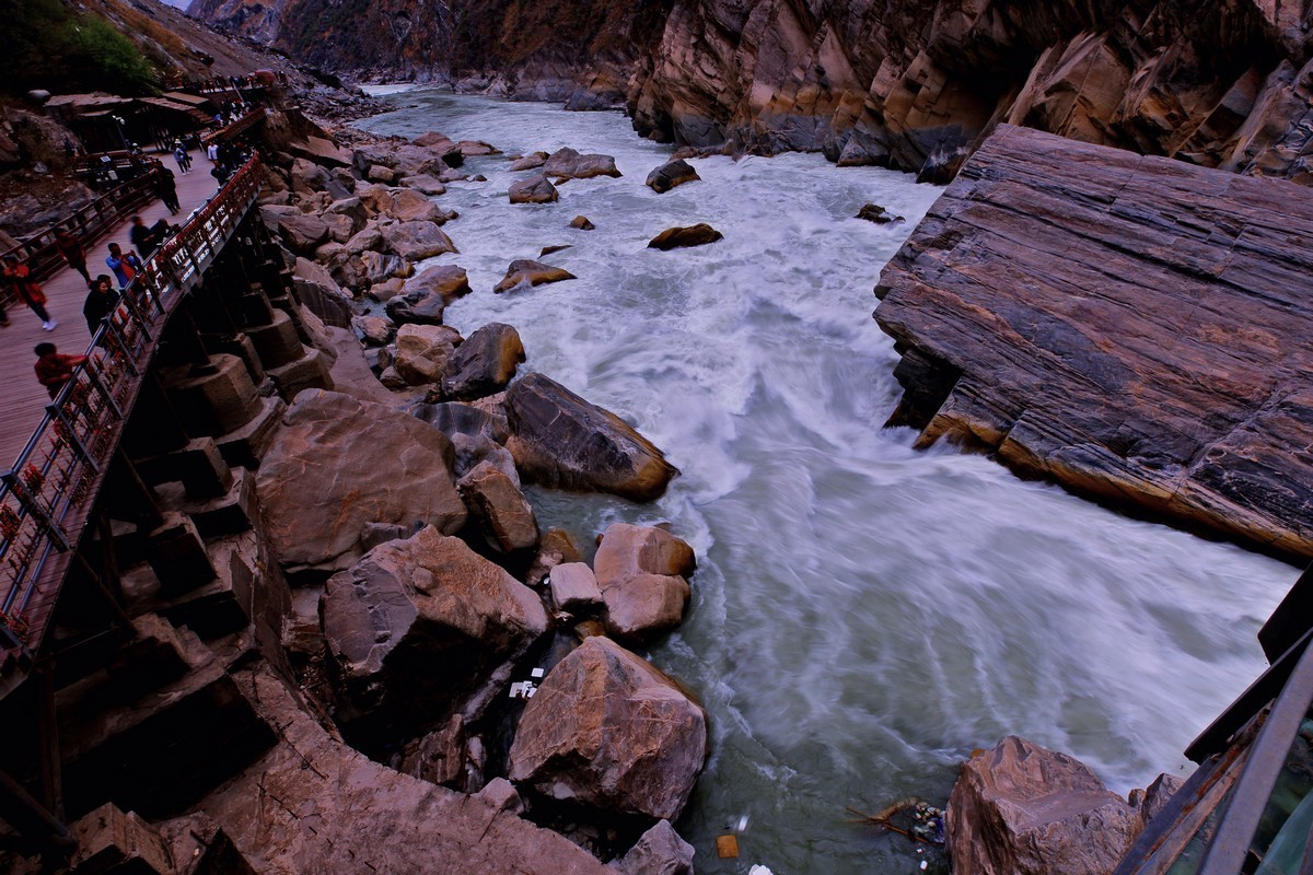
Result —
[[196, 0], [352, 77], [574, 108], [655, 139], [947, 181], [999, 122], [1305, 181], [1309, 1]]

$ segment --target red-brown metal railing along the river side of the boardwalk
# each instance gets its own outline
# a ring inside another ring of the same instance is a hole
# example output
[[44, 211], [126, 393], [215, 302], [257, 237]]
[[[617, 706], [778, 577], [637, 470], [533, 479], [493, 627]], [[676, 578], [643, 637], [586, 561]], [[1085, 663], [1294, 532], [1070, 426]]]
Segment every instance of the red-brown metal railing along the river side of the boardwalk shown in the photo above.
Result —
[[29, 624], [28, 610], [37, 596], [53, 601], [63, 584], [62, 573], [42, 572], [53, 554], [76, 547], [160, 331], [255, 203], [261, 181], [255, 155], [152, 253], [92, 337], [87, 363], [0, 475], [0, 659], [16, 651], [30, 657], [39, 645], [43, 628]]

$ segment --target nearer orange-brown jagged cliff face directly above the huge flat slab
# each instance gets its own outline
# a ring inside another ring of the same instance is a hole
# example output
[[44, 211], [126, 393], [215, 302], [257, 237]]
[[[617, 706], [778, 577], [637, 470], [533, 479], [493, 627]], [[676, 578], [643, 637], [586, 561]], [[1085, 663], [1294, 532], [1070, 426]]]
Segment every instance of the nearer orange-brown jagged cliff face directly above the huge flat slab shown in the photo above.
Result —
[[664, 139], [825, 150], [927, 178], [951, 176], [1001, 121], [1288, 176], [1308, 135], [1289, 105], [1272, 110], [1306, 112], [1306, 33], [1279, 4], [1233, 1], [687, 1], [629, 109]]

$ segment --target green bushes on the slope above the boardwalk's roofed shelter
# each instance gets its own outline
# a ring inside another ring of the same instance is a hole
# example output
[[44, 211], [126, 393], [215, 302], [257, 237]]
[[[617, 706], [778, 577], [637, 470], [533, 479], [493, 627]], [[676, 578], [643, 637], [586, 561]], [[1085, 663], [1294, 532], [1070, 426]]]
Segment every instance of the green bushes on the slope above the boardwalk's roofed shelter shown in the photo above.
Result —
[[75, 16], [59, 0], [0, 0], [0, 21], [8, 37], [0, 52], [0, 87], [11, 93], [155, 91], [150, 63], [104, 18]]

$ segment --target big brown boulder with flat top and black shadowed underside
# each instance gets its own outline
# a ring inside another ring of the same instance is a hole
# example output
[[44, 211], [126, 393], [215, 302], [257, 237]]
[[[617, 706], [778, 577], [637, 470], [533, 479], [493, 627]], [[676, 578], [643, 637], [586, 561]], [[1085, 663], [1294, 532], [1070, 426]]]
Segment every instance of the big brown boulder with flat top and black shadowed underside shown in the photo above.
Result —
[[382, 708], [379, 718], [406, 724], [460, 711], [470, 697], [477, 712], [498, 670], [548, 628], [532, 589], [433, 527], [335, 575], [319, 613], [344, 716]]

